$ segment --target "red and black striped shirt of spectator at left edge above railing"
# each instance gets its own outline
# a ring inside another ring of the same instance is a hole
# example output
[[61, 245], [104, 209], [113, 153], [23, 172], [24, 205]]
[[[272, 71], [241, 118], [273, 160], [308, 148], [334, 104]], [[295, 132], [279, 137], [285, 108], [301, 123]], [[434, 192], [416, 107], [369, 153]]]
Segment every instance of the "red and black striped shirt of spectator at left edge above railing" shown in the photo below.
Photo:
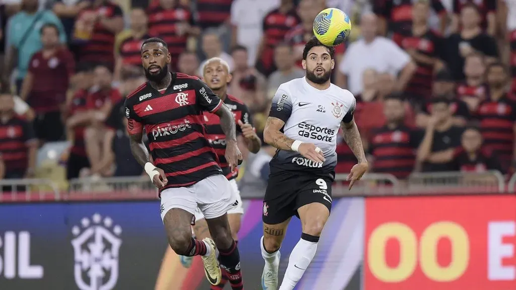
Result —
[[26, 120], [13, 117], [7, 122], [0, 122], [0, 155], [6, 172], [27, 170], [27, 144], [33, 141], [37, 141], [34, 130]]

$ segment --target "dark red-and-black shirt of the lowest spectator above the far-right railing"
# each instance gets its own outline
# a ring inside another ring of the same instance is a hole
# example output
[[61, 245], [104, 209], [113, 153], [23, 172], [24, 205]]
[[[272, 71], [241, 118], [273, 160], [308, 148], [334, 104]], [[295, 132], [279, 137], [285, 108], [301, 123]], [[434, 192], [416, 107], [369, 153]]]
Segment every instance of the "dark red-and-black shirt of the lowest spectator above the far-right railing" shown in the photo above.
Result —
[[485, 148], [481, 148], [474, 155], [471, 155], [462, 147], [459, 147], [454, 152], [451, 164], [455, 171], [486, 172], [488, 170], [498, 170], [504, 172], [498, 158]]

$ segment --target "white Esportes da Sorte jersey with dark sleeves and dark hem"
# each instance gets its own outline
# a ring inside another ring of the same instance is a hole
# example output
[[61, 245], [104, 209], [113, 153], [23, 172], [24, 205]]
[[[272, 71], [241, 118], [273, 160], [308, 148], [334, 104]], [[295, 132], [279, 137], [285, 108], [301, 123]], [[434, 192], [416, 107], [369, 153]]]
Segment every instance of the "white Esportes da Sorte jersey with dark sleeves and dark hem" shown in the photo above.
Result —
[[326, 161], [314, 164], [298, 152], [278, 150], [270, 162], [271, 173], [280, 169], [333, 175], [338, 129], [341, 122], [351, 122], [355, 107], [353, 94], [333, 84], [319, 90], [302, 77], [280, 85], [272, 99], [269, 117], [285, 122], [282, 131], [288, 138], [313, 143], [322, 149]]

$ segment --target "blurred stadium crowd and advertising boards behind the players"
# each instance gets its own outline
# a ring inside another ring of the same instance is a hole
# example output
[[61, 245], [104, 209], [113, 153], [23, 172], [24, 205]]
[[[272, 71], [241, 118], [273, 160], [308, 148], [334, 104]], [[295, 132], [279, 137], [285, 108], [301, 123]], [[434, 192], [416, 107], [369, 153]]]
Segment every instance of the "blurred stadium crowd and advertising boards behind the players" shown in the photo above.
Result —
[[[128, 146], [141, 42], [163, 38], [190, 75], [227, 60], [260, 133], [326, 7], [353, 23], [332, 82], [357, 98], [371, 169], [348, 191], [339, 139], [332, 215], [296, 289], [515, 289], [516, 0], [0, 0], [0, 289], [207, 289], [200, 260], [163, 260]], [[273, 152], [243, 152], [238, 177], [247, 289]]]

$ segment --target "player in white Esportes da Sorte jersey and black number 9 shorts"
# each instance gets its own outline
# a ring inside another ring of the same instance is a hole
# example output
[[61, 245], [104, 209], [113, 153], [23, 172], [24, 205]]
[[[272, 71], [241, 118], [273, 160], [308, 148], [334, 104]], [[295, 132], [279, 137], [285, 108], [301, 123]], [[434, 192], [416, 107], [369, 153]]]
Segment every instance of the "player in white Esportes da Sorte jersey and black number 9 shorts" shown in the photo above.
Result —
[[264, 290], [277, 290], [280, 246], [288, 222], [301, 219], [301, 239], [292, 250], [280, 290], [292, 290], [312, 261], [331, 210], [337, 132], [358, 159], [348, 175], [349, 188], [367, 170], [360, 133], [353, 120], [353, 94], [330, 83], [334, 49], [311, 39], [304, 47], [306, 76], [282, 84], [274, 98], [264, 131], [276, 147], [263, 202]]

